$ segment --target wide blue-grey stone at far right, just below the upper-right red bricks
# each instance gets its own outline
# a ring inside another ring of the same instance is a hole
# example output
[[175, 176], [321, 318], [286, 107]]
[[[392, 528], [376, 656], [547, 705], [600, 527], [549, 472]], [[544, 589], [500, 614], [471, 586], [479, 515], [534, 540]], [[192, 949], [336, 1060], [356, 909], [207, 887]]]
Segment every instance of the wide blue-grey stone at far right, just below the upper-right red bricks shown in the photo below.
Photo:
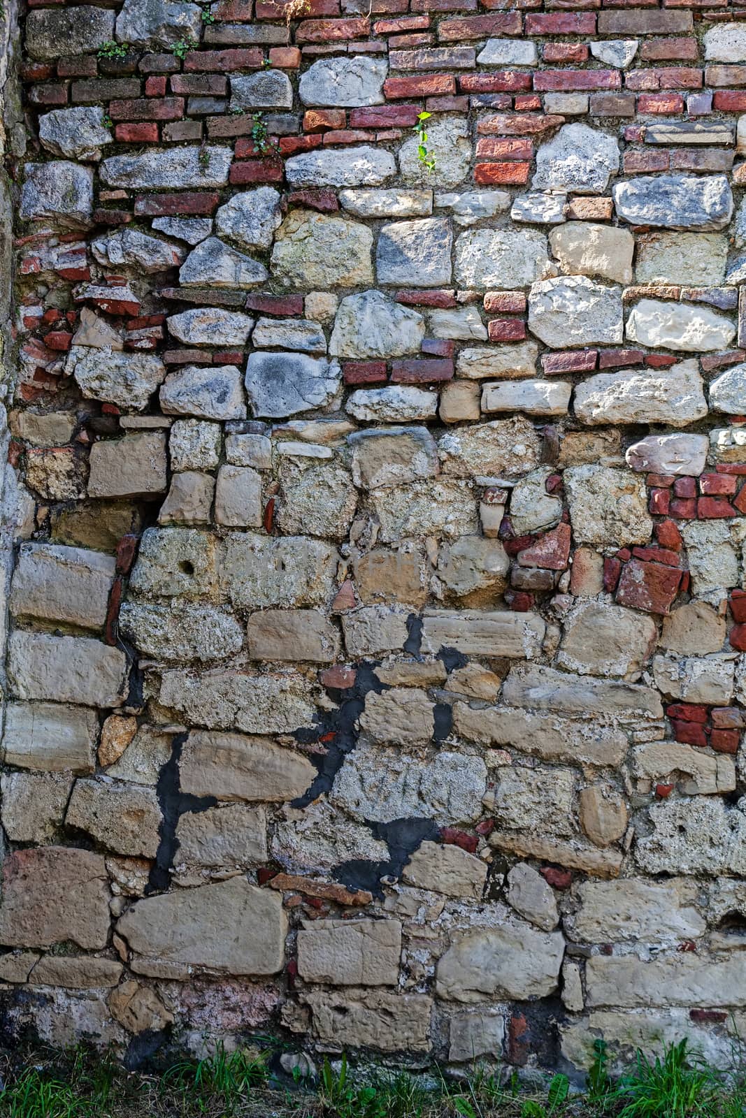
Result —
[[630, 225], [724, 229], [733, 215], [725, 174], [641, 174], [612, 187], [616, 214]]

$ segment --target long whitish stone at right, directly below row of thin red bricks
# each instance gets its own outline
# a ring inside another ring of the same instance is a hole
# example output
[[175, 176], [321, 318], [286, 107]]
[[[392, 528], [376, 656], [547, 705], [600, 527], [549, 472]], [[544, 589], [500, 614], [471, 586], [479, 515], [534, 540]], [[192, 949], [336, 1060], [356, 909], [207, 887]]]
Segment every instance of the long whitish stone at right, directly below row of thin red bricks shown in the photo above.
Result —
[[588, 377], [575, 389], [580, 423], [668, 423], [683, 426], [707, 415], [699, 362], [669, 369], [624, 369]]

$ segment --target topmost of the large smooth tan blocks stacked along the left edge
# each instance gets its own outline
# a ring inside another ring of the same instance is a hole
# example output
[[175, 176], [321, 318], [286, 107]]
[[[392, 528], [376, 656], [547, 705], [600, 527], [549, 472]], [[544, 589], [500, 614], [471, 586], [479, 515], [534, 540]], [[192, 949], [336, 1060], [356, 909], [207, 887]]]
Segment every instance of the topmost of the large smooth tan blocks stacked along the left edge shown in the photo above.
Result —
[[16, 617], [102, 628], [114, 584], [113, 556], [55, 543], [22, 543], [10, 590]]

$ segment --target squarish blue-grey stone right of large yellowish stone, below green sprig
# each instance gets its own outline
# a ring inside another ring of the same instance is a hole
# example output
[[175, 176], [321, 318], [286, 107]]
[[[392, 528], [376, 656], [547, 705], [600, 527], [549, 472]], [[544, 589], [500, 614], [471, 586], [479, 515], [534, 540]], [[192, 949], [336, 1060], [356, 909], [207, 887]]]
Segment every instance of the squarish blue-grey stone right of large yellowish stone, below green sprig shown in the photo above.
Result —
[[451, 224], [444, 218], [396, 221], [378, 235], [378, 282], [438, 287], [451, 282]]

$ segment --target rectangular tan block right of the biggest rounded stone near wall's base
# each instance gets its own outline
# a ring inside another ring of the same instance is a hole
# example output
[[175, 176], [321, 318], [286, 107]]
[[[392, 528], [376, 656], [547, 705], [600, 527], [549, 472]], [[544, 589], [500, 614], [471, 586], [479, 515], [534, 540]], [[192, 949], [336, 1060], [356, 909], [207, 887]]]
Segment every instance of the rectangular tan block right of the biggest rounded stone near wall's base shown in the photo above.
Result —
[[298, 934], [298, 973], [334, 986], [396, 986], [398, 920], [317, 920]]

